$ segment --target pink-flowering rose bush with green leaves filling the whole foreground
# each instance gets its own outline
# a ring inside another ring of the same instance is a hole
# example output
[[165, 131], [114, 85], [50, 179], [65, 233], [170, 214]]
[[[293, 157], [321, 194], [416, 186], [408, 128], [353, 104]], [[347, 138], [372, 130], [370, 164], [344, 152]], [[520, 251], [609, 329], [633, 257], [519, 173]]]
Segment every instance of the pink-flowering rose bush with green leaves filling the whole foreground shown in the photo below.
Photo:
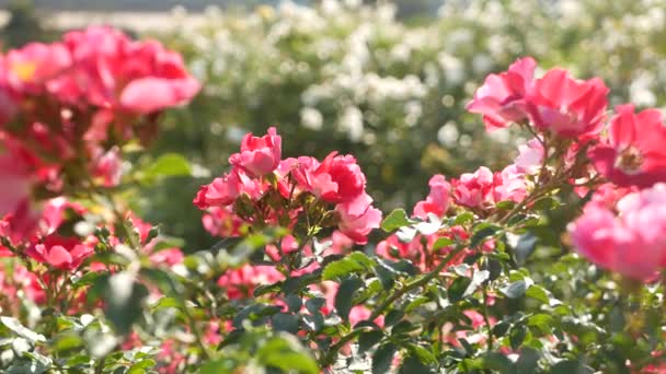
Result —
[[179, 55], [93, 27], [1, 62], [4, 372], [665, 370], [662, 118], [598, 78], [490, 75], [469, 109], [531, 140], [386, 215], [354, 155], [245, 135], [186, 255], [128, 198], [192, 174], [136, 155], [199, 89]]

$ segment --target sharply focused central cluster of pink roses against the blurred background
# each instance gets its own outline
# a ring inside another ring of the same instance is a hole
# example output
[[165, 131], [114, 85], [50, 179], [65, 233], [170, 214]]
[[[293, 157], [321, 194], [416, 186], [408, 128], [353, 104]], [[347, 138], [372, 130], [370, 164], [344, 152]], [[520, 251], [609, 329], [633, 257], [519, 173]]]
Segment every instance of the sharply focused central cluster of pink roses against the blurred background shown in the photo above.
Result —
[[334, 229], [365, 244], [379, 226], [381, 212], [371, 206], [366, 177], [351, 155], [283, 160], [282, 138], [269, 128], [261, 138], [245, 136], [229, 163], [231, 171], [203, 186], [194, 199], [208, 211], [204, 224], [215, 234], [280, 225], [312, 236]]

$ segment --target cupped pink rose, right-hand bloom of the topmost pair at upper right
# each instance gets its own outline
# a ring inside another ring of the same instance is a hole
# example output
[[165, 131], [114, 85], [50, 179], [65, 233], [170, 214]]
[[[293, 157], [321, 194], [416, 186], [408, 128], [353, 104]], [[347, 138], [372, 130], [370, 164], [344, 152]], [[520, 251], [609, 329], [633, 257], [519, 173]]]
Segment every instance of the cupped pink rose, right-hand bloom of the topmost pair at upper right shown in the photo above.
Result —
[[581, 81], [566, 70], [552, 69], [530, 90], [530, 118], [538, 129], [560, 137], [594, 136], [604, 125], [607, 94], [598, 78]]

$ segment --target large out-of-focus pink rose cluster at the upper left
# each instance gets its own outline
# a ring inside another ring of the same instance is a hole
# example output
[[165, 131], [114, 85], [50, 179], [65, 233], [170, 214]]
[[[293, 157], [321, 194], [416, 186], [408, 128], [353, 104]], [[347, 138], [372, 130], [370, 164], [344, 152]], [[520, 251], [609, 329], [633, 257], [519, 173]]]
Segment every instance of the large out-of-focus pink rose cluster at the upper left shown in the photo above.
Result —
[[122, 147], [198, 90], [180, 55], [106, 27], [0, 56], [0, 217], [30, 231], [34, 200], [117, 185]]

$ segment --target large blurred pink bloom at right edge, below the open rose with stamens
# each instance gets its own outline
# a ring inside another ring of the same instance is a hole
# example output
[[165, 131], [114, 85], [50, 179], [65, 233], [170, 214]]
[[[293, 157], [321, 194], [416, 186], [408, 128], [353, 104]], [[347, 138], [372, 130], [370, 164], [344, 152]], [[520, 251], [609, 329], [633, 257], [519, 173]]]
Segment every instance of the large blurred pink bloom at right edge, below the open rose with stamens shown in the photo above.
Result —
[[617, 214], [593, 201], [569, 232], [576, 249], [590, 261], [648, 280], [666, 266], [666, 185], [625, 196]]

